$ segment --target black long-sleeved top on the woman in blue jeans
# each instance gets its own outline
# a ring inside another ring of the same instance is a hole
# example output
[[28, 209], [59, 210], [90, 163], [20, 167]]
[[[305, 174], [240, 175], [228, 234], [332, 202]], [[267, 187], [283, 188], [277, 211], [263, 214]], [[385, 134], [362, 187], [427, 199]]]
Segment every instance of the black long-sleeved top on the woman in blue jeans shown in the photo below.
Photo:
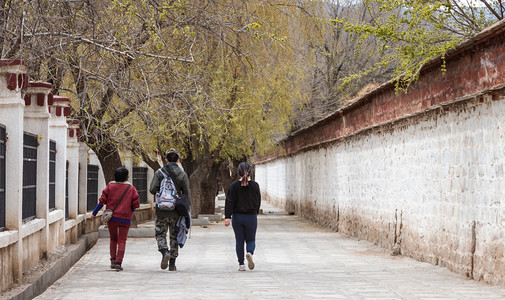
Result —
[[258, 214], [261, 206], [260, 186], [256, 181], [249, 181], [248, 186], [241, 186], [240, 181], [234, 181], [228, 193], [224, 207], [224, 216], [231, 218], [233, 214]]

